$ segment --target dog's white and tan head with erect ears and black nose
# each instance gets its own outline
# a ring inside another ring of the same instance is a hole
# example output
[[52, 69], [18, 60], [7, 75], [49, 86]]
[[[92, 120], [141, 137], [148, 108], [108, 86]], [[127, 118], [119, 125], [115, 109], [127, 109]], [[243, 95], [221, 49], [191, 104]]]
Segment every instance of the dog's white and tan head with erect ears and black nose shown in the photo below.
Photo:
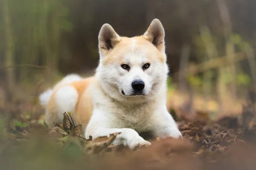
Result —
[[120, 37], [109, 24], [99, 32], [100, 62], [96, 71], [104, 91], [119, 101], [143, 101], [166, 82], [164, 29], [154, 19], [139, 37]]

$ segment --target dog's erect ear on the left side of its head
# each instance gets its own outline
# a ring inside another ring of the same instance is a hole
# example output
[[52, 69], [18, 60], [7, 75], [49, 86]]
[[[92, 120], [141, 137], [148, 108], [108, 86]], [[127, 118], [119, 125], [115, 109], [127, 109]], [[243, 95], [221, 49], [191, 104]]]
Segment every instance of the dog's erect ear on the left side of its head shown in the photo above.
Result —
[[99, 51], [102, 53], [102, 57], [105, 57], [119, 41], [120, 37], [111, 25], [104, 24], [99, 31]]

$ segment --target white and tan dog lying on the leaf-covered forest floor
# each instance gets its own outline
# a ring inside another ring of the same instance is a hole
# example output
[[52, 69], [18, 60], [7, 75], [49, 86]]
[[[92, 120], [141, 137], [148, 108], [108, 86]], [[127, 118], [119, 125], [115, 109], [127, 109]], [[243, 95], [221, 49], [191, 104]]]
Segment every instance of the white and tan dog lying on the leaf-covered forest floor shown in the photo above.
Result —
[[61, 123], [71, 111], [85, 137], [120, 132], [114, 143], [131, 149], [150, 145], [139, 133], [150, 131], [160, 138], [181, 137], [166, 108], [164, 29], [154, 19], [140, 37], [120, 37], [109, 24], [99, 32], [99, 66], [94, 77], [71, 74], [40, 96], [46, 122]]

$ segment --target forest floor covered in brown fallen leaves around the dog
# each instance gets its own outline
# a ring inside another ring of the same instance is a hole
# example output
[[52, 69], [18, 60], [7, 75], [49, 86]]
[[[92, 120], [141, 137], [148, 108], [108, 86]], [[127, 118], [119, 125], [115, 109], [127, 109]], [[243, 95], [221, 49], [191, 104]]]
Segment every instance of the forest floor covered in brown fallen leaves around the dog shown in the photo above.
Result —
[[33, 103], [0, 108], [1, 170], [256, 169], [256, 126], [247, 112], [215, 121], [180, 119], [183, 140], [149, 139], [151, 146], [131, 151], [111, 145], [117, 134], [85, 140], [68, 113], [63, 124], [48, 128], [44, 110]]

